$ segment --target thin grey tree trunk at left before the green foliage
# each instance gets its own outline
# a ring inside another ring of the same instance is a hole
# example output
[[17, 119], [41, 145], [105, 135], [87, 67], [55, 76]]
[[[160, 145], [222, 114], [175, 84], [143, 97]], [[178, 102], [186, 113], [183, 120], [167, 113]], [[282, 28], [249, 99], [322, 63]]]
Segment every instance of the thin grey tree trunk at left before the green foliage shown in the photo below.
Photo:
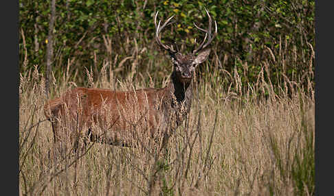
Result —
[[49, 34], [47, 36], [47, 56], [46, 56], [46, 73], [45, 73], [45, 93], [49, 96], [49, 86], [51, 80], [51, 68], [54, 62], [54, 20], [56, 18], [56, 0], [50, 0], [50, 21]]

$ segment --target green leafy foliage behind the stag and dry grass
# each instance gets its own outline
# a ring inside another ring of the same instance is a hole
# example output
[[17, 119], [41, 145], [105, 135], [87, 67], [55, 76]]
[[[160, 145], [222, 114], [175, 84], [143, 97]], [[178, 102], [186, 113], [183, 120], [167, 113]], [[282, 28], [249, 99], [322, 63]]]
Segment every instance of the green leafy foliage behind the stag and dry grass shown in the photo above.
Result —
[[[74, 60], [70, 71], [76, 70], [78, 75], [91, 66], [99, 73], [106, 61], [111, 62], [109, 69], [116, 70], [129, 56], [133, 60], [122, 64], [117, 77], [126, 77], [134, 60], [137, 73], [153, 73], [164, 66], [168, 69], [168, 58], [162, 58], [164, 51], [155, 44], [155, 12], [159, 11], [162, 20], [175, 15], [175, 23], [166, 27], [162, 40], [176, 41], [189, 52], [194, 38], [203, 39], [193, 23], [207, 26], [204, 8], [217, 21], [219, 33], [212, 42], [208, 66], [199, 69], [202, 74], [210, 74], [212, 69], [236, 71], [247, 84], [256, 82], [265, 69], [265, 78], [274, 86], [281, 86], [283, 79], [309, 84], [306, 78], [314, 86], [314, 0], [56, 1], [52, 71], [56, 78], [62, 76], [69, 60]], [[45, 71], [49, 10], [49, 1], [19, 0], [19, 62], [23, 74], [34, 65]], [[104, 38], [111, 40], [109, 51]], [[85, 77], [76, 80], [85, 85]]]

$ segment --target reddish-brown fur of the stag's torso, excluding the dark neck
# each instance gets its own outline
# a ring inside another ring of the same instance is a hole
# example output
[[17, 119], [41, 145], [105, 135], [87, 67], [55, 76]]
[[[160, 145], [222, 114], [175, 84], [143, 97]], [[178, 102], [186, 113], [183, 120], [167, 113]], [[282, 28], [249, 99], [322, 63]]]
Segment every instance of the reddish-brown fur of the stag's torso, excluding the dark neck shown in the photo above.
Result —
[[[139, 127], [145, 123], [147, 130], [155, 134], [154, 130], [157, 130], [162, 122], [161, 111], [164, 107], [162, 101], [165, 96], [170, 97], [169, 92], [168, 87], [133, 91], [74, 88], [61, 97], [47, 101], [44, 112], [45, 116], [52, 120], [55, 142], [62, 138], [60, 126], [63, 124], [58, 123], [59, 120], [66, 120], [66, 108], [68, 108], [69, 118], [78, 121], [78, 130], [72, 130], [72, 132], [81, 132], [84, 127], [90, 128], [92, 123], [98, 123], [103, 127], [108, 119], [110, 126], [108, 132], [113, 134], [104, 138], [107, 139], [107, 143], [118, 145], [119, 141], [129, 134], [133, 125], [137, 125], [136, 128], [139, 130]], [[74, 129], [74, 125], [71, 128]], [[87, 135], [88, 130], [84, 134]], [[122, 143], [126, 141], [128, 139], [124, 138]]]

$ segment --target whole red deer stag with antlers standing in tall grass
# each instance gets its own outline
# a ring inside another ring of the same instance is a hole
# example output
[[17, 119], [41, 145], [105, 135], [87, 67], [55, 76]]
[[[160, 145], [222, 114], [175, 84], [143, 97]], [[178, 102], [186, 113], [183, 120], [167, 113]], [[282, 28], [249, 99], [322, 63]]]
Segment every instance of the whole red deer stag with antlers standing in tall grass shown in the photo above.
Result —
[[[192, 77], [198, 64], [204, 62], [210, 53], [210, 42], [217, 33], [216, 21], [214, 21], [214, 33], [212, 35], [212, 19], [208, 12], [208, 29], [202, 29], [196, 24], [195, 27], [205, 32], [205, 38], [192, 53], [183, 55], [177, 47], [164, 45], [159, 37], [160, 32], [172, 19], [171, 16], [162, 25], [157, 23], [155, 14], [155, 40], [157, 45], [168, 51], [172, 61], [173, 70], [170, 75], [170, 82], [164, 88], [143, 88], [139, 90], [115, 91], [102, 88], [74, 88], [68, 90], [60, 97], [51, 99], [45, 103], [45, 116], [52, 123], [54, 143], [63, 140], [63, 134], [75, 136], [78, 139], [78, 132], [84, 136], [92, 135], [99, 138], [99, 141], [111, 145], [128, 145], [126, 136], [133, 134], [131, 123], [144, 124], [151, 136], [157, 132], [165, 132], [171, 119], [179, 125], [190, 111], [192, 101]], [[206, 41], [206, 42], [205, 42]], [[198, 53], [198, 55], [197, 55]], [[67, 111], [67, 112], [66, 112]], [[71, 119], [72, 127], [64, 129], [65, 121]], [[106, 122], [109, 122], [105, 126]], [[92, 125], [107, 127], [104, 134], [94, 132]], [[73, 126], [76, 127], [73, 127]], [[86, 132], [83, 127], [86, 127]], [[156, 136], [156, 135], [155, 135]], [[94, 138], [96, 138], [94, 137]], [[102, 139], [101, 139], [102, 138]], [[101, 139], [101, 140], [100, 140]], [[73, 140], [72, 140], [73, 141]]]

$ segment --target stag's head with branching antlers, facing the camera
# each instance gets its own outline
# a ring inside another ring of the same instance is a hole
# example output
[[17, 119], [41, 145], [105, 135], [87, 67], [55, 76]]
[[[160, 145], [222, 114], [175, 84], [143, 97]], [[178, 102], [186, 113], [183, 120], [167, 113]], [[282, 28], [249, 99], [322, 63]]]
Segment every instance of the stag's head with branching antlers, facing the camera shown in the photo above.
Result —
[[[155, 14], [155, 19], [154, 19], [154, 23], [155, 23], [155, 40], [157, 41], [157, 44], [162, 47], [162, 49], [165, 49], [166, 51], [168, 51], [169, 55], [170, 55], [170, 59], [172, 60], [172, 64], [174, 67], [174, 72], [176, 73], [177, 79], [179, 79], [180, 82], [183, 83], [188, 83], [191, 81], [193, 75], [194, 75], [194, 70], [196, 69], [198, 64], [201, 64], [202, 62], [204, 62], [209, 54], [210, 54], [210, 48], [207, 48], [208, 45], [210, 45], [210, 43], [212, 42], [213, 38], [216, 36], [217, 33], [217, 24], [216, 21], [214, 21], [214, 25], [215, 25], [215, 30], [214, 30], [214, 34], [213, 36], [211, 35], [211, 25], [212, 25], [212, 19], [211, 16], [208, 12], [208, 10], [205, 9], [205, 12], [208, 14], [208, 18], [209, 18], [209, 25], [208, 25], [208, 29], [202, 29], [201, 27], [197, 26], [194, 23], [194, 26], [201, 30], [201, 32], [205, 32], [205, 37], [203, 39], [203, 41], [201, 42], [201, 44], [199, 45], [199, 47], [197, 49], [195, 49], [196, 47], [196, 39], [194, 40], [194, 49], [192, 51], [192, 53], [188, 53], [186, 55], [183, 55], [179, 49], [177, 48], [177, 46], [175, 45], [175, 49], [173, 49], [172, 47], [168, 46], [168, 45], [164, 45], [162, 43], [162, 40], [159, 38], [159, 34], [162, 31], [162, 29], [164, 27], [166, 27], [166, 25], [168, 25], [168, 23], [170, 22], [170, 20], [174, 17], [174, 16], [170, 16], [169, 19], [167, 19], [167, 21], [164, 23], [164, 25], [160, 25], [161, 21], [159, 21], [159, 23], [157, 24], [157, 14], [158, 12]], [[208, 40], [207, 40], [208, 38]], [[207, 40], [205, 42], [205, 40]], [[198, 53], [198, 55], [197, 55]]]

